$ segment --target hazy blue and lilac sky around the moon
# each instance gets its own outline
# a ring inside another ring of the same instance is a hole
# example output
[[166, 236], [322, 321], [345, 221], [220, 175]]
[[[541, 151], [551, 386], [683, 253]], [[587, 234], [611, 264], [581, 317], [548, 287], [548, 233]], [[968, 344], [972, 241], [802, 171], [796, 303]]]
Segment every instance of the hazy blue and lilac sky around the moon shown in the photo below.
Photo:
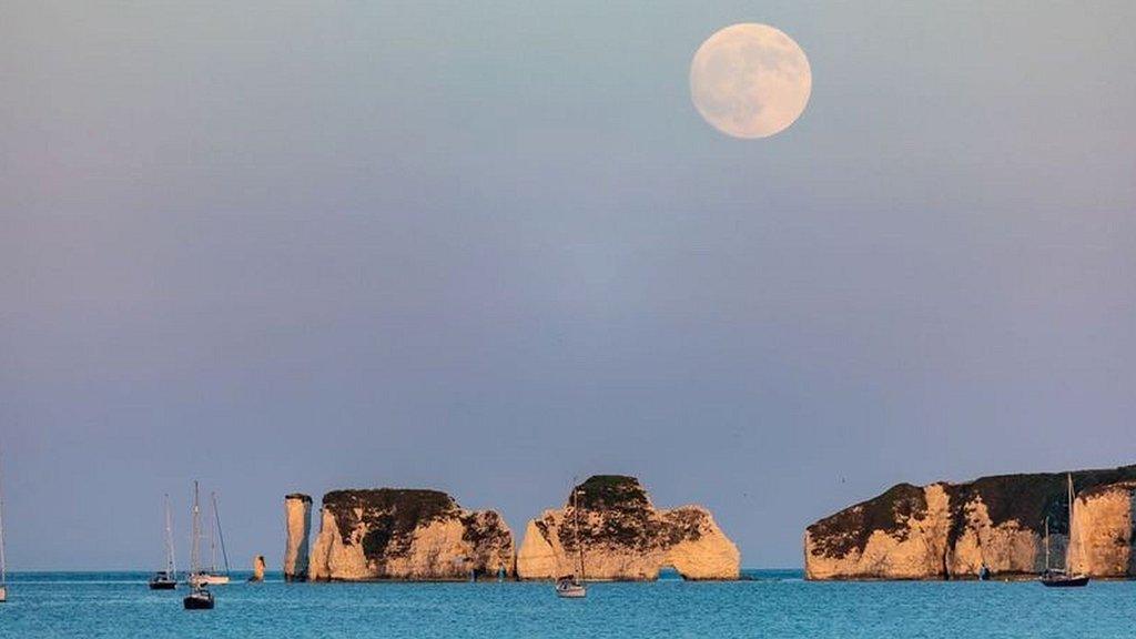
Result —
[[[897, 482], [1136, 463], [1136, 3], [56, 2], [0, 20], [9, 566], [233, 563], [283, 496], [517, 534], [574, 476], [746, 566]], [[803, 48], [763, 140], [719, 28]]]

